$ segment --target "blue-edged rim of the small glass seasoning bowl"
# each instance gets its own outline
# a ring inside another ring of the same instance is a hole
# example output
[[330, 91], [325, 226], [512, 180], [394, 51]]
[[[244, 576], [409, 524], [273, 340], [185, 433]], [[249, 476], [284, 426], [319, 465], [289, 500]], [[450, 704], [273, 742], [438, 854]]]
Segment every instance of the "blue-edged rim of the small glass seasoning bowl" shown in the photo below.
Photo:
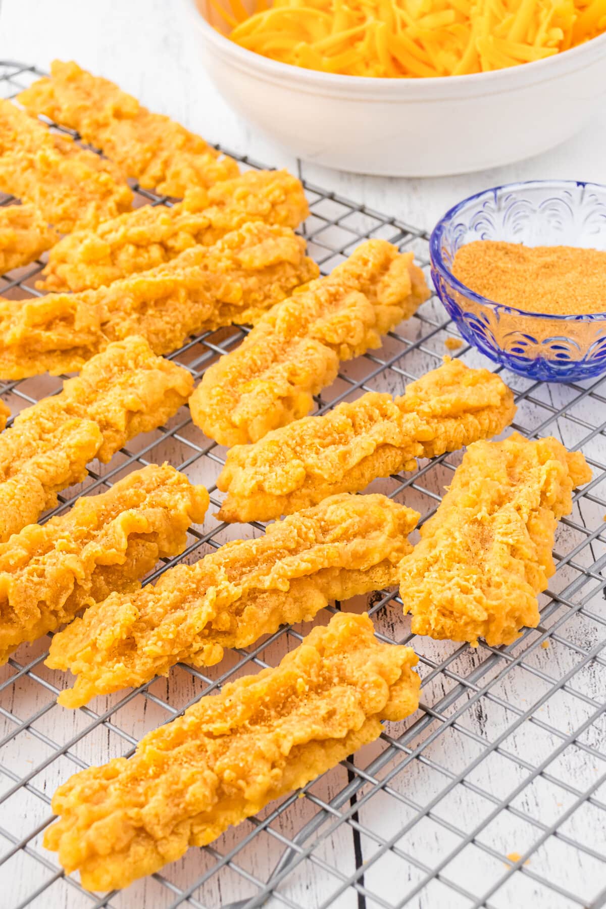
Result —
[[[465, 205], [469, 205], [470, 202], [481, 199], [483, 196], [489, 198], [491, 195], [496, 196], [498, 193], [502, 192], [515, 192], [520, 191], [524, 187], [546, 185], [551, 185], [554, 188], [564, 188], [567, 186], [595, 186], [600, 189], [604, 195], [606, 195], [606, 185], [595, 183], [591, 180], [520, 180], [516, 183], [504, 183], [500, 186], [491, 186], [488, 189], [482, 189], [479, 193], [469, 195], [466, 199], [462, 199], [462, 201], [458, 202], [456, 205], [452, 205], [452, 208], [449, 208], [446, 214], [442, 215], [442, 218], [440, 218], [438, 223], [433, 228], [432, 234], [429, 238], [429, 253], [432, 270], [437, 272], [438, 275], [448, 281], [449, 284], [453, 285], [454, 289], [459, 291], [459, 293], [472, 299], [474, 303], [479, 303], [492, 309], [498, 309], [501, 312], [512, 313], [513, 315], [529, 316], [533, 319], [551, 319], [558, 322], [598, 322], [601, 319], [606, 319], [606, 312], [580, 313], [578, 315], [562, 315], [560, 313], [533, 313], [528, 309], [518, 309], [515, 306], [510, 306], [504, 303], [497, 303], [496, 300], [491, 300], [490, 297], [482, 296], [482, 294], [477, 294], [472, 290], [471, 287], [464, 285], [462, 281], [459, 281], [459, 279], [452, 274], [450, 268], [444, 263], [442, 257], [442, 236], [446, 228], [451, 224], [452, 220], [459, 214]], [[438, 292], [437, 287], [436, 292]]]

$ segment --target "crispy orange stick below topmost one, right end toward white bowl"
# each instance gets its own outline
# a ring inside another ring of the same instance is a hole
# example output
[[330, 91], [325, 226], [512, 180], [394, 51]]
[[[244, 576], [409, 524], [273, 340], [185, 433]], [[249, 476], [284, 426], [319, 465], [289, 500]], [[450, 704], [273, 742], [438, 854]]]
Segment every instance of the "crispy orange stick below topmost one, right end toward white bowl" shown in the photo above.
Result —
[[297, 227], [309, 214], [300, 181], [287, 171], [247, 171], [210, 189], [188, 190], [167, 208], [144, 205], [65, 236], [38, 287], [81, 291], [144, 272], [196, 244], [212, 245], [248, 221]]

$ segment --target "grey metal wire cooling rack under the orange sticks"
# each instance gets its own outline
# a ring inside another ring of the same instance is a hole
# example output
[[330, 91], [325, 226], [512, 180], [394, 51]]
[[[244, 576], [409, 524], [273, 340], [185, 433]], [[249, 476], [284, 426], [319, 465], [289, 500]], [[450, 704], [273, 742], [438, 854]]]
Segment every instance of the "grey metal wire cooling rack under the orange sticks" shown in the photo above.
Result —
[[[3, 95], [15, 95], [37, 75], [34, 67], [0, 64]], [[373, 236], [413, 249], [427, 269], [428, 237], [421, 230], [316, 186], [305, 188], [312, 215], [304, 233], [323, 272]], [[143, 191], [137, 201], [168, 203]], [[0, 294], [36, 295], [41, 268], [38, 263], [5, 275]], [[201, 335], [172, 359], [197, 378], [244, 331]], [[456, 336], [432, 298], [380, 351], [343, 365], [317, 398], [318, 410], [369, 390], [401, 394], [409, 380], [439, 365], [445, 341]], [[464, 345], [454, 355], [486, 365]], [[48, 640], [21, 647], [0, 671], [2, 906], [597, 909], [606, 903], [606, 379], [542, 385], [506, 372], [502, 377], [517, 393], [515, 428], [580, 447], [593, 469], [573, 514], [558, 529], [558, 570], [541, 595], [539, 627], [509, 647], [481, 643], [473, 650], [412, 635], [392, 592], [349, 601], [347, 609], [370, 609], [382, 640], [410, 644], [419, 654], [420, 710], [386, 726], [379, 742], [303, 793], [269, 805], [204, 849], [190, 849], [161, 874], [101, 897], [85, 891], [77, 876], [66, 877], [42, 845], [56, 785], [89, 764], [131, 754], [145, 732], [226, 679], [275, 665], [310, 625], [284, 628], [207, 672], [178, 666], [168, 679], [97, 698], [75, 712], [55, 704], [65, 676], [44, 665]], [[1, 385], [0, 392], [15, 415], [59, 386], [57, 379], [38, 377]], [[164, 459], [207, 484], [217, 505], [214, 479], [224, 455], [184, 408], [169, 424], [134, 439], [110, 464], [93, 464], [85, 483], [67, 490], [55, 512], [84, 490], [94, 494], [130, 470]], [[373, 489], [410, 504], [425, 519], [459, 462], [460, 454], [424, 462], [416, 473], [392, 476]], [[204, 527], [192, 529], [182, 558], [193, 561], [227, 539], [262, 530], [261, 524], [219, 524], [211, 515]], [[148, 580], [176, 561], [166, 561]], [[323, 610], [316, 622], [325, 624], [338, 608]]]

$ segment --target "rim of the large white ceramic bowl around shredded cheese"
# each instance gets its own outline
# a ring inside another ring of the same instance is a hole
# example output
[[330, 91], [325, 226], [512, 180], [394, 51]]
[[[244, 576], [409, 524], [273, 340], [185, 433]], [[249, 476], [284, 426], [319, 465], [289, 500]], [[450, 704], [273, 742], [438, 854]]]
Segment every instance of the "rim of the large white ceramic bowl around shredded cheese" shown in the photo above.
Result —
[[[493, 92], [495, 87], [503, 84], [504, 87], [510, 85], [525, 84], [533, 75], [536, 76], [534, 81], [545, 81], [554, 75], [554, 71], [563, 69], [564, 72], [570, 72], [572, 69], [580, 69], [589, 65], [585, 57], [598, 59], [606, 55], [606, 32], [602, 35], [596, 35], [589, 41], [581, 45], [569, 48], [561, 54], [555, 54], [551, 57], [545, 57], [542, 60], [533, 60], [519, 66], [511, 66], [503, 69], [491, 70], [488, 73], [469, 73], [465, 75], [438, 75], [427, 78], [397, 78], [393, 76], [382, 76], [377, 78], [370, 75], [343, 75], [341, 73], [323, 73], [320, 70], [305, 69], [303, 66], [293, 64], [284, 64], [270, 57], [256, 54], [249, 51], [241, 45], [236, 45], [230, 41], [226, 35], [223, 35], [218, 29], [214, 28], [204, 17], [201, 9], [198, 7], [196, 0], [182, 0], [182, 6], [187, 8], [190, 17], [195, 19], [197, 27], [201, 29], [204, 36], [212, 41], [214, 45], [223, 52], [229, 53], [234, 60], [247, 68], [253, 68], [258, 73], [266, 76], [273, 76], [282, 81], [284, 78], [296, 75], [297, 80], [306, 87], [323, 85], [333, 88], [350, 88], [353, 93], [356, 90], [373, 91], [376, 90], [377, 84], [381, 85], [383, 90], [387, 89], [387, 94], [391, 95], [396, 89], [402, 91], [403, 88], [409, 89], [413, 86], [416, 92], [420, 89], [420, 95], [433, 95], [447, 89], [448, 95], [451, 95], [452, 89], [466, 88], [476, 90], [486, 86]], [[574, 65], [574, 64], [577, 65]], [[403, 94], [406, 94], [405, 92]]]

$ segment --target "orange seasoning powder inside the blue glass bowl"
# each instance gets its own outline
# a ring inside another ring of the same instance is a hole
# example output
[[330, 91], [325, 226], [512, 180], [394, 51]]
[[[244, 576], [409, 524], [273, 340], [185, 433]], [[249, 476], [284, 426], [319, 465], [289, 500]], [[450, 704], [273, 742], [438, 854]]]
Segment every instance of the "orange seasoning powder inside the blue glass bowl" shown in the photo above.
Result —
[[476, 294], [531, 313], [606, 313], [606, 252], [476, 240], [461, 246], [452, 274]]

